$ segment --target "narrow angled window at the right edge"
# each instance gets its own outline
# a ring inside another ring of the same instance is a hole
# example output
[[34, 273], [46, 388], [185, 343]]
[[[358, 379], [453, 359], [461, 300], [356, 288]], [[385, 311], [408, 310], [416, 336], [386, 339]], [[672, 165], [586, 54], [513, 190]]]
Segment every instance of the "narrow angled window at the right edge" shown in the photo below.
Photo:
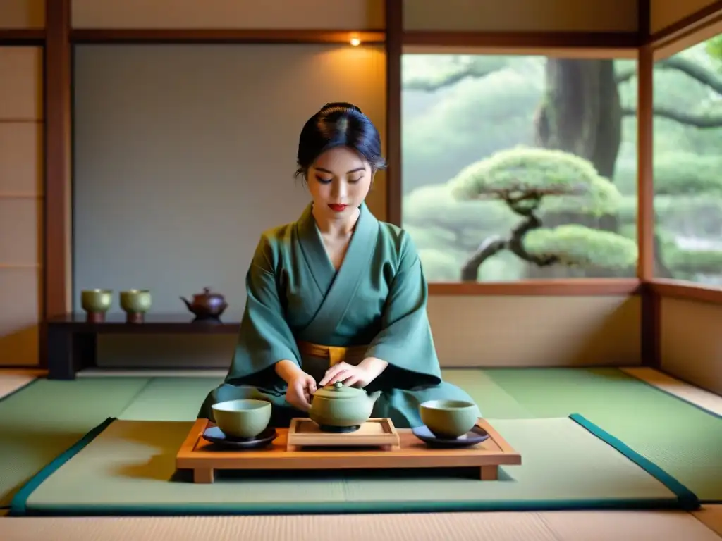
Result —
[[654, 66], [654, 276], [722, 284], [722, 35]]

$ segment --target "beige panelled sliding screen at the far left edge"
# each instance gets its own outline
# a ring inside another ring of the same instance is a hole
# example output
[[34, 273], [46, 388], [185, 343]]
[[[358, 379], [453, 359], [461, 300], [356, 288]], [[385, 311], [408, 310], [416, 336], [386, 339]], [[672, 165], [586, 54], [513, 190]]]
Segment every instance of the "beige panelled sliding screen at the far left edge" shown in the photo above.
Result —
[[0, 47], [0, 366], [38, 364], [43, 51]]

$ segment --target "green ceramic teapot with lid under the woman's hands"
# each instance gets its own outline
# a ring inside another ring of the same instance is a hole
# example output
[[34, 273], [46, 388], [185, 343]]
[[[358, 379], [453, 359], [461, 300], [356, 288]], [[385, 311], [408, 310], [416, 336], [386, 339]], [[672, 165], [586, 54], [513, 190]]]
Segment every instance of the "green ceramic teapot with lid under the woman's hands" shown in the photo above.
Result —
[[313, 393], [308, 416], [324, 432], [352, 432], [368, 421], [380, 395], [336, 382]]

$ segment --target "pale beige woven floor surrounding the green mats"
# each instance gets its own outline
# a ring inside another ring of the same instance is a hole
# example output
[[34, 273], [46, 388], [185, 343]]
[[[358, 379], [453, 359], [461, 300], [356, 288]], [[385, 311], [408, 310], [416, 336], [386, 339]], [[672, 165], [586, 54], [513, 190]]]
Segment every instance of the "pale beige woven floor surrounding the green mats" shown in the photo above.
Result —
[[[625, 369], [666, 392], [722, 414], [722, 397], [652, 369]], [[151, 375], [143, 372], [144, 375]], [[220, 374], [220, 373], [219, 373]], [[38, 374], [0, 371], [0, 396]], [[156, 375], [156, 374], [153, 374]], [[178, 377], [178, 373], [173, 374]], [[193, 375], [199, 375], [193, 371]], [[222, 375], [222, 374], [221, 374]], [[700, 511], [555, 511], [305, 516], [0, 518], [0, 540], [482, 540], [607, 541], [722, 537], [722, 505]]]

